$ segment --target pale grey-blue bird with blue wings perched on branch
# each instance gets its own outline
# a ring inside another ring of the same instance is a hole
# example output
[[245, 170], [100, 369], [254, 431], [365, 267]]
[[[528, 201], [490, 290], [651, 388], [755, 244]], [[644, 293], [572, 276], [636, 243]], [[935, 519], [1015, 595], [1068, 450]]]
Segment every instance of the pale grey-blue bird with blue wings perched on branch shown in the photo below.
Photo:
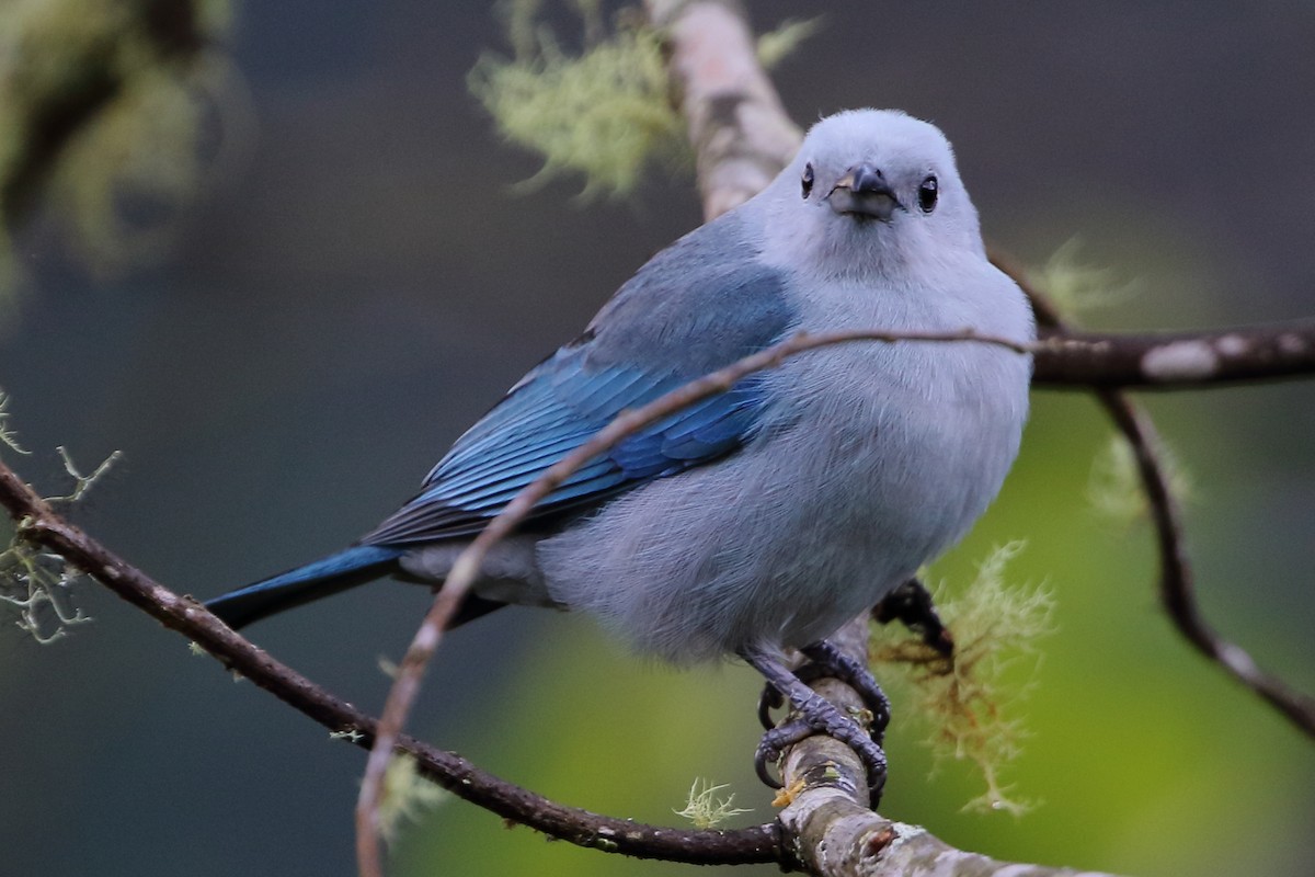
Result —
[[949, 142], [901, 110], [818, 121], [760, 193], [642, 266], [377, 527], [206, 606], [237, 628], [384, 576], [442, 586], [492, 517], [622, 412], [798, 333], [865, 329], [1019, 350], [836, 344], [744, 377], [565, 479], [487, 556], [456, 621], [548, 606], [676, 665], [739, 656], [801, 715], [763, 738], [760, 776], [823, 731], [859, 752], [876, 797], [878, 730], [814, 694], [788, 652], [867, 673], [826, 638], [993, 502], [1019, 451], [1031, 379], [1019, 351], [1035, 339], [1026, 296], [988, 259]]

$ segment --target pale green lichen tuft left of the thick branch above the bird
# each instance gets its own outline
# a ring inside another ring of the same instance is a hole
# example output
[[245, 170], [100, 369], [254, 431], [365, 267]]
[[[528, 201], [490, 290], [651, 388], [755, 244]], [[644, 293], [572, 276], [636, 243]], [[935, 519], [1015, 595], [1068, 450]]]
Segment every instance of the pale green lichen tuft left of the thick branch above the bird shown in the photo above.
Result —
[[579, 174], [583, 196], [629, 195], [648, 164], [685, 150], [661, 39], [634, 16], [606, 33], [598, 4], [577, 0], [583, 47], [573, 54], [538, 24], [540, 5], [508, 4], [513, 57], [485, 53], [468, 76], [471, 92], [504, 138], [543, 156], [523, 185]]

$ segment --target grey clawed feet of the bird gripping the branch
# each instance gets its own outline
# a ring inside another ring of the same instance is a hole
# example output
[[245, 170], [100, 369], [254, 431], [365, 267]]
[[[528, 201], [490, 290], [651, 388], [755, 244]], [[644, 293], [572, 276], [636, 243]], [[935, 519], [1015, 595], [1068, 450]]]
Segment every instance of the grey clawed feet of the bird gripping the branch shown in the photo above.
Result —
[[[886, 755], [881, 748], [881, 739], [890, 721], [890, 702], [868, 668], [831, 643], [821, 642], [802, 651], [810, 663], [793, 673], [775, 655], [756, 650], [742, 652], [742, 657], [768, 682], [759, 701], [759, 718], [767, 731], [753, 753], [753, 768], [764, 784], [780, 788], [780, 781], [772, 776], [768, 765], [778, 763], [784, 751], [800, 740], [826, 734], [848, 746], [863, 761], [868, 772], [872, 806], [876, 807], [886, 781]], [[871, 718], [860, 722], [848, 717], [807, 686], [807, 681], [822, 677], [839, 678], [853, 688]], [[782, 696], [789, 699], [798, 717], [777, 726], [768, 713], [781, 705]]]

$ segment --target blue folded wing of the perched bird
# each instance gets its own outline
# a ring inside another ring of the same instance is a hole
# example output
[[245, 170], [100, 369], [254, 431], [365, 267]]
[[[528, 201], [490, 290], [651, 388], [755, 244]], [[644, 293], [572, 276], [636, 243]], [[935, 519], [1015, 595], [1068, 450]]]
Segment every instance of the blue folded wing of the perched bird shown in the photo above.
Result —
[[[706, 226], [705, 226], [706, 230]], [[706, 243], [706, 242], [705, 242]], [[429, 473], [422, 490], [363, 542], [396, 546], [477, 533], [526, 485], [627, 409], [773, 343], [792, 321], [782, 279], [743, 252], [672, 272], [660, 254], [590, 323], [525, 376]], [[672, 252], [677, 251], [675, 256]], [[685, 252], [688, 263], [690, 252]], [[752, 437], [764, 404], [751, 376], [655, 422], [580, 467], [531, 519], [597, 502], [715, 460]]]

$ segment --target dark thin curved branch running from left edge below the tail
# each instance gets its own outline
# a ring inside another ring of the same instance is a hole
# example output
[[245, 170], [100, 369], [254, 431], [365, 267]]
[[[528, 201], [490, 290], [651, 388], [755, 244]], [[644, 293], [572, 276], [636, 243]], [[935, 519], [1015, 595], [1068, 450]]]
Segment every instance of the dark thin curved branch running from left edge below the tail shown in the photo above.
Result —
[[[0, 505], [20, 536], [43, 546], [116, 594], [175, 630], [225, 665], [330, 731], [368, 748], [377, 721], [271, 657], [230, 630], [203, 605], [164, 588], [58, 515], [0, 463]], [[692, 864], [789, 863], [776, 824], [734, 831], [682, 831], [646, 826], [555, 803], [487, 773], [451, 752], [402, 736], [396, 752], [413, 756], [425, 776], [471, 803], [581, 847]]]

